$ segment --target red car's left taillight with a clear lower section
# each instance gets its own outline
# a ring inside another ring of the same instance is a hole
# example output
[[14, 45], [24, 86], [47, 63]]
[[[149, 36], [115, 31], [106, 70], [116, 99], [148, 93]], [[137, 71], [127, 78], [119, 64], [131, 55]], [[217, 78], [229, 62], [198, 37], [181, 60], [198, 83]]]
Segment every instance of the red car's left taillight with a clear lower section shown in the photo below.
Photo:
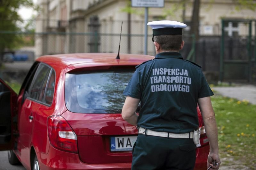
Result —
[[47, 129], [49, 141], [54, 148], [78, 153], [76, 134], [61, 115], [48, 117]]

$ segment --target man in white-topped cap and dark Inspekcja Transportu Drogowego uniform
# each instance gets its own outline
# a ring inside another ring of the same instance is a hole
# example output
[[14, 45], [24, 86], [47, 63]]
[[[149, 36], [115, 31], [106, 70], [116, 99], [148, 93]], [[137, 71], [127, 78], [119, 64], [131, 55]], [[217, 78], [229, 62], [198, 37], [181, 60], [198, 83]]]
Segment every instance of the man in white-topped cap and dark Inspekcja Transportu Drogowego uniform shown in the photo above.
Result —
[[[194, 169], [198, 128], [197, 103], [210, 143], [207, 167], [219, 169], [218, 132], [207, 84], [200, 66], [183, 60], [182, 28], [176, 21], [153, 21], [156, 58], [136, 67], [123, 94], [122, 117], [139, 127], [132, 169]], [[140, 102], [140, 114], [135, 113]]]

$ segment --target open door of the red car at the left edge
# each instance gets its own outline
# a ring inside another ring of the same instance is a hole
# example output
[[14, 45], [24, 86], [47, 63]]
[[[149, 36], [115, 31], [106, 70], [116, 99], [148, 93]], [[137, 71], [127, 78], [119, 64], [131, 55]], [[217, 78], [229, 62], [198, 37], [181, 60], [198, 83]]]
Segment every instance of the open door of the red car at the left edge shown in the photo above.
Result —
[[13, 150], [18, 95], [0, 78], [0, 151]]

